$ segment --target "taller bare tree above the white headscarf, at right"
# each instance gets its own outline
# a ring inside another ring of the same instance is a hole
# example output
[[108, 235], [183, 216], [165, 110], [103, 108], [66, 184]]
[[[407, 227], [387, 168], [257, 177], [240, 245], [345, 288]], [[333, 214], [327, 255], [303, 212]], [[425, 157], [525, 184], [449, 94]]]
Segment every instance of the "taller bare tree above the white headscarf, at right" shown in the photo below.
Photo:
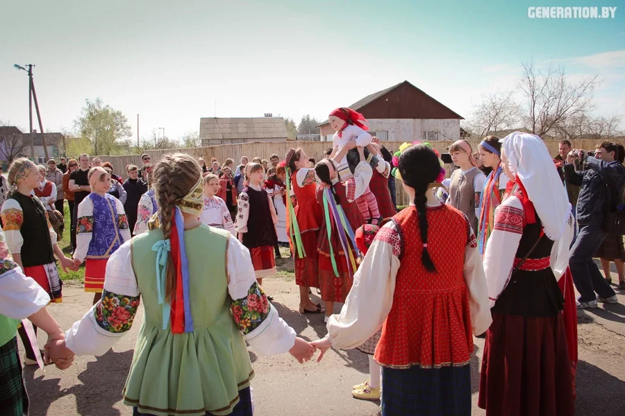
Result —
[[524, 75], [519, 88], [526, 98], [526, 122], [533, 134], [547, 135], [556, 125], [567, 123], [573, 116], [593, 110], [592, 94], [599, 85], [599, 75], [572, 82], [565, 68], [550, 65], [547, 71], [537, 69], [534, 62], [522, 63]]

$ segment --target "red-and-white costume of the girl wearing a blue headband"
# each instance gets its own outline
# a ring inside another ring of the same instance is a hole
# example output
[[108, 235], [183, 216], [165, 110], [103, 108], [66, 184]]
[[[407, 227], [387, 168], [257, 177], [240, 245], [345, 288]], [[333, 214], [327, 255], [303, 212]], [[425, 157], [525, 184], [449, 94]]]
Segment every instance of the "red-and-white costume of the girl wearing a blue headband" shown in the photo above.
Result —
[[501, 163], [497, 166], [497, 169], [493, 169], [486, 177], [484, 190], [480, 198], [480, 215], [478, 217], [477, 233], [478, 248], [482, 255], [484, 255], [484, 251], [486, 250], [486, 241], [488, 241], [488, 237], [490, 237], [490, 233], [492, 233], [494, 211], [501, 204], [503, 194], [506, 193], [506, 187], [509, 181], [508, 176], [503, 173]]

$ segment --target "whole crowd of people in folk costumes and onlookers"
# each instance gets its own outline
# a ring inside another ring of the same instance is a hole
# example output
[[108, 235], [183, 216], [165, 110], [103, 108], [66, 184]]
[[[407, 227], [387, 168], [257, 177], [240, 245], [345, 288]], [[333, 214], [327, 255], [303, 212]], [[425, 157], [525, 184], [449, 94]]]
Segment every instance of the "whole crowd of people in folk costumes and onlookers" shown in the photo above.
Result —
[[[606, 226], [622, 208], [625, 148], [588, 155], [562, 141], [552, 159], [540, 137], [515, 132], [477, 149], [456, 141], [447, 155], [418, 141], [392, 153], [362, 114], [338, 108], [329, 120], [319, 162], [301, 148], [237, 166], [146, 154], [124, 180], [88, 155], [47, 168], [15, 160], [0, 184], [3, 414], [28, 411], [17, 335], [24, 364], [41, 365], [40, 327], [43, 361], [65, 369], [106, 353], [143, 302], [123, 391], [135, 415], [251, 415], [246, 343], [300, 363], [356, 348], [369, 379], [352, 395], [381, 399], [382, 415], [470, 415], [474, 336], [485, 337], [487, 415], [573, 415], [576, 308], [618, 302], [610, 261], [625, 288], [622, 236]], [[396, 180], [411, 202], [399, 212]], [[64, 200], [71, 258], [57, 243]], [[294, 258], [299, 312], [324, 320], [324, 338], [297, 336], [263, 290], [280, 248]], [[67, 331], [45, 308], [63, 301], [57, 261], [85, 262], [94, 294]]]

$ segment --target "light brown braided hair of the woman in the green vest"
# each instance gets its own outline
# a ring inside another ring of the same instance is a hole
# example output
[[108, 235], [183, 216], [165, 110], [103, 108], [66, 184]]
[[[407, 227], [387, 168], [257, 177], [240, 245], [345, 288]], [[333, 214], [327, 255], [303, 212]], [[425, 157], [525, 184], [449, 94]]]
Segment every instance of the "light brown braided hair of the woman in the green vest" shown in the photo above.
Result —
[[[202, 170], [194, 157], [185, 153], [165, 155], [154, 166], [153, 186], [158, 213], [160, 217], [160, 229], [163, 231], [163, 239], [169, 239], [172, 234], [174, 207], [176, 202], [184, 198], [197, 184]], [[167, 266], [165, 268], [165, 298], [171, 299], [176, 293], [176, 270], [172, 261], [172, 254], [167, 254]]]

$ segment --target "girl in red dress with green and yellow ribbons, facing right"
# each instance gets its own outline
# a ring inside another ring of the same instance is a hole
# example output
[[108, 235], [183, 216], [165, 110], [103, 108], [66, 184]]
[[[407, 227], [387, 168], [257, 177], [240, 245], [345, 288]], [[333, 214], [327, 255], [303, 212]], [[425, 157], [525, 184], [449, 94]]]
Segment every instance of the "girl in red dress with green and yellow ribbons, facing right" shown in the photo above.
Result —
[[295, 283], [299, 286], [299, 313], [323, 313], [320, 304], [308, 296], [311, 287], [319, 287], [317, 241], [321, 229], [323, 208], [317, 204], [315, 169], [308, 168], [308, 156], [301, 149], [290, 148], [285, 157], [287, 192], [297, 198], [293, 207], [287, 198], [287, 234], [295, 259]]

